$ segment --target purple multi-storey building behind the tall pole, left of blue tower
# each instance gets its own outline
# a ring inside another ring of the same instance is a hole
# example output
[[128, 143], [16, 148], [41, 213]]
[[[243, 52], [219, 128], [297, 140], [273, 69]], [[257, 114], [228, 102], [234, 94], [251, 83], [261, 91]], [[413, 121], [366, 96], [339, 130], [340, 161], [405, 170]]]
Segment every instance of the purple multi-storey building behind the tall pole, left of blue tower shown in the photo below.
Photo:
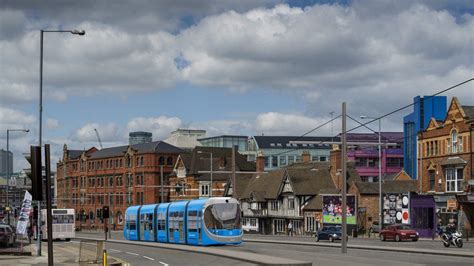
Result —
[[[362, 181], [377, 182], [379, 176], [378, 135], [376, 133], [348, 133], [348, 142], [373, 142], [374, 144], [350, 145], [347, 157], [355, 161]], [[382, 132], [382, 176], [390, 177], [403, 169], [403, 132]]]

